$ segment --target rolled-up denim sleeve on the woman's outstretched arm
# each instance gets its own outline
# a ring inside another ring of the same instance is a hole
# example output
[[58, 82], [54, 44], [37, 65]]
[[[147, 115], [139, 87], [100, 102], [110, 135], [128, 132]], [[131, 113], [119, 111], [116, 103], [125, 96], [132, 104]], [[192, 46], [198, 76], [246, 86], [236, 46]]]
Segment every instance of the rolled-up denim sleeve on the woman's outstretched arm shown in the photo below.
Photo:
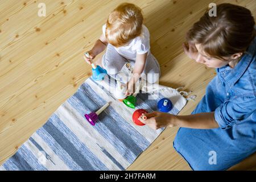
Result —
[[245, 120], [256, 108], [256, 98], [240, 96], [225, 101], [215, 110], [214, 117], [221, 129], [229, 129], [238, 122]]

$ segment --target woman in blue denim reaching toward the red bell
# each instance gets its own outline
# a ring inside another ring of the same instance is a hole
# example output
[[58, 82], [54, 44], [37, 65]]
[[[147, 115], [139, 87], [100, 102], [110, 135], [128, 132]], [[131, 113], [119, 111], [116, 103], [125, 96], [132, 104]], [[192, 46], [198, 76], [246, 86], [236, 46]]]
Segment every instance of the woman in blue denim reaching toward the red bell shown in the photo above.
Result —
[[181, 127], [174, 148], [195, 170], [225, 170], [256, 152], [255, 22], [245, 7], [221, 4], [188, 31], [185, 53], [217, 68], [191, 115], [146, 114], [153, 129]]

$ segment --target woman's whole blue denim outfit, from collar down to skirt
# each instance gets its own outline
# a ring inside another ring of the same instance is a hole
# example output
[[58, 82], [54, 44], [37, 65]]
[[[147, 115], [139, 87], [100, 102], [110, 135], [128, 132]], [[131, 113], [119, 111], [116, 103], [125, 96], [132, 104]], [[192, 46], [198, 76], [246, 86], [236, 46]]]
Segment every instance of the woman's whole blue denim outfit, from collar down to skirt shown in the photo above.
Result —
[[[218, 68], [205, 96], [193, 111], [214, 111], [220, 127], [181, 127], [174, 148], [194, 170], [225, 170], [256, 152], [256, 38], [236, 67]], [[209, 152], [217, 155], [209, 164]]]

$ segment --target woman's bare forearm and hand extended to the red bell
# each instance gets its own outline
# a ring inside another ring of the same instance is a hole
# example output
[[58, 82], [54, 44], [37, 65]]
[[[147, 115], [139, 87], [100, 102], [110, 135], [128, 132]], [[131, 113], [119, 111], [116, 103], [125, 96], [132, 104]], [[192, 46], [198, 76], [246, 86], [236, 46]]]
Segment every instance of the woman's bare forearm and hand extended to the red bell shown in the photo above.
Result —
[[214, 129], [219, 127], [214, 119], [214, 112], [173, 115], [155, 111], [144, 115], [146, 115], [147, 119], [139, 118], [139, 120], [155, 130], [167, 126], [188, 127], [192, 129]]

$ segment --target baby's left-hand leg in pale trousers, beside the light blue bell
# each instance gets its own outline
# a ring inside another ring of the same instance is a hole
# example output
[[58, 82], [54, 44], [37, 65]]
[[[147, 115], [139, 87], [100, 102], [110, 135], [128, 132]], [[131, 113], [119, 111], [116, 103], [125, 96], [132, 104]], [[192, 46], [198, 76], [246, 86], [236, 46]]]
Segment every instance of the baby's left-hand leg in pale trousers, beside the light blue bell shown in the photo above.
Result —
[[115, 78], [126, 63], [127, 60], [125, 57], [119, 55], [115, 48], [111, 44], [108, 44], [106, 53], [102, 56], [102, 67], [106, 69], [108, 75]]

